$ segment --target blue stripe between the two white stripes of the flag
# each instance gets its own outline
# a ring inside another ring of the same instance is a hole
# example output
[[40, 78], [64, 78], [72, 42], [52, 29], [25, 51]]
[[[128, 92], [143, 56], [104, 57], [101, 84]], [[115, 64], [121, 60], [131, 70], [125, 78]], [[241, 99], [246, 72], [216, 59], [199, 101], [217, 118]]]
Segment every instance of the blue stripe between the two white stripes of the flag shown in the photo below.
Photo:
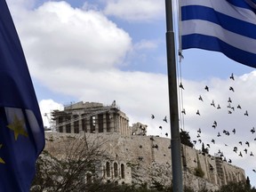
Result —
[[183, 6], [181, 7], [181, 20], [208, 20], [228, 31], [256, 39], [256, 25], [215, 12], [214, 9], [209, 7], [199, 5]]

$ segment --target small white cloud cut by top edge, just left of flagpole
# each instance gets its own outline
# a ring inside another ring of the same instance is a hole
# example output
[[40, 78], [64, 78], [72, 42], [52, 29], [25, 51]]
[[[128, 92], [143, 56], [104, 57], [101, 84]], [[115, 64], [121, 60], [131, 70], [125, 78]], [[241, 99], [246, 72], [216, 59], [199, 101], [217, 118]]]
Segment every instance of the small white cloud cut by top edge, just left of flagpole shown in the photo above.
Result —
[[164, 1], [108, 0], [104, 11], [123, 20], [150, 21], [164, 18]]

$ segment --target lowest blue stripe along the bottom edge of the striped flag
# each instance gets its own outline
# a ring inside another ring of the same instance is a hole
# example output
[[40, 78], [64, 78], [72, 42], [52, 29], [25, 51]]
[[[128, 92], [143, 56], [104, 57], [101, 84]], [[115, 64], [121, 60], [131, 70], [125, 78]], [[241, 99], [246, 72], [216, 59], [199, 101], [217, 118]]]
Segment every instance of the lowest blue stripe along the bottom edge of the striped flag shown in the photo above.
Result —
[[231, 60], [256, 68], [256, 54], [244, 52], [213, 36], [188, 35], [182, 36], [182, 49], [199, 48], [209, 51], [222, 52]]

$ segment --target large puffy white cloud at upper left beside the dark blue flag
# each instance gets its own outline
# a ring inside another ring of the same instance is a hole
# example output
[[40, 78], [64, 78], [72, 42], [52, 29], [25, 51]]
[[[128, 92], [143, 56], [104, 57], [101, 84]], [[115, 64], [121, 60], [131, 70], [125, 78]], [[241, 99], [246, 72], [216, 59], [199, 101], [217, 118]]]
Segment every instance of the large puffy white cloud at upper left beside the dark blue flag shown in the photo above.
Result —
[[61, 68], [114, 68], [122, 65], [132, 47], [131, 37], [103, 14], [74, 9], [65, 2], [44, 3], [27, 12], [17, 27], [36, 77], [42, 68], [56, 73]]

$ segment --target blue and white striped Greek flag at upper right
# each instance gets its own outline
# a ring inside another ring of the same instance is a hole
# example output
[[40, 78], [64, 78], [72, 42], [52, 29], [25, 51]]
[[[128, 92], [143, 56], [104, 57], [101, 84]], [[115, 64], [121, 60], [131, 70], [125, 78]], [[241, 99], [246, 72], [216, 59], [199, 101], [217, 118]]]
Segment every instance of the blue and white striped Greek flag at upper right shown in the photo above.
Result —
[[256, 68], [255, 0], [181, 0], [182, 49], [222, 52]]

